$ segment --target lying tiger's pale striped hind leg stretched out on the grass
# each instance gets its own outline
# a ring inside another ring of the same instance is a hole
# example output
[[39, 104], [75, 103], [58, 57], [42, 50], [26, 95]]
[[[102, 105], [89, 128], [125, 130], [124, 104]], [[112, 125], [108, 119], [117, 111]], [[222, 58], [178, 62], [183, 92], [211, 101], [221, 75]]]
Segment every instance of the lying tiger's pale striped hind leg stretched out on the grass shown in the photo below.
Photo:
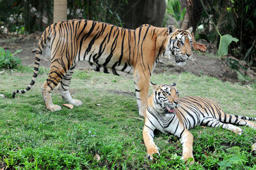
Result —
[[221, 121], [211, 117], [205, 117], [201, 125], [207, 125], [208, 127], [222, 127], [234, 132], [235, 134], [238, 134], [238, 135], [243, 134], [243, 130], [241, 128], [236, 127], [229, 123], [222, 123]]

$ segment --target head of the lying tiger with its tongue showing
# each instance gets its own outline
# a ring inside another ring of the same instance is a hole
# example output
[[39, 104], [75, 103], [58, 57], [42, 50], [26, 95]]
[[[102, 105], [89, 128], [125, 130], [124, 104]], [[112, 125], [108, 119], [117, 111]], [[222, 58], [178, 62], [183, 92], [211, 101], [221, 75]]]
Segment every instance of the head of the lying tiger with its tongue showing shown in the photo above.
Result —
[[174, 108], [179, 107], [179, 91], [172, 85], [157, 85], [150, 82], [154, 89], [152, 99], [154, 108], [164, 114], [174, 113]]

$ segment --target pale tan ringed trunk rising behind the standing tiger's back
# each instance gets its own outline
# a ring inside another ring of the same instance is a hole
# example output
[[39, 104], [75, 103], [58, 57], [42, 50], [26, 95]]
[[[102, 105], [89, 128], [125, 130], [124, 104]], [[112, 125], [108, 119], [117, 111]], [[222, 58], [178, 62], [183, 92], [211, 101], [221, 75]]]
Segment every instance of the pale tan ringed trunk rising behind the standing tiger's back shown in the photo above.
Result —
[[54, 0], [53, 22], [67, 20], [67, 0]]

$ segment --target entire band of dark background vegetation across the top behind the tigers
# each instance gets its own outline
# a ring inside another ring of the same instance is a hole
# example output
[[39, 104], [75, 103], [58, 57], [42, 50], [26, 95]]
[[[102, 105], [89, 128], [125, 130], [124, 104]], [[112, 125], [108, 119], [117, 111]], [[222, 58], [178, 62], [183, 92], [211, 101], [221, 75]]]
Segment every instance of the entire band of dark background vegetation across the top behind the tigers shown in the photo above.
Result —
[[[193, 26], [196, 40], [204, 39], [218, 47], [220, 37], [212, 26], [214, 22], [221, 35], [239, 39], [230, 44], [229, 54], [255, 67], [256, 1], [203, 0], [202, 3], [210, 17], [200, 0], [68, 0], [67, 19], [99, 20], [130, 29], [145, 23], [161, 27], [170, 22], [182, 27], [187, 10], [188, 26]], [[53, 1], [2, 0], [0, 9], [0, 33], [5, 35], [43, 31], [52, 23]]]

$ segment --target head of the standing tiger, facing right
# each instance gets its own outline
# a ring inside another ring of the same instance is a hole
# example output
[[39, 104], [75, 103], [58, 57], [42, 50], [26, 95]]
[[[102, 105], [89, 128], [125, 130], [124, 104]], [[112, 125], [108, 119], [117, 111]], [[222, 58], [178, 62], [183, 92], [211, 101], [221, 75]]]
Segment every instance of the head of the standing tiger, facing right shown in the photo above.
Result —
[[171, 58], [174, 56], [177, 65], [185, 65], [187, 59], [195, 60], [192, 53], [192, 30], [190, 27], [187, 30], [178, 29], [173, 25], [168, 28], [168, 45], [166, 46], [166, 53], [164, 56]]

